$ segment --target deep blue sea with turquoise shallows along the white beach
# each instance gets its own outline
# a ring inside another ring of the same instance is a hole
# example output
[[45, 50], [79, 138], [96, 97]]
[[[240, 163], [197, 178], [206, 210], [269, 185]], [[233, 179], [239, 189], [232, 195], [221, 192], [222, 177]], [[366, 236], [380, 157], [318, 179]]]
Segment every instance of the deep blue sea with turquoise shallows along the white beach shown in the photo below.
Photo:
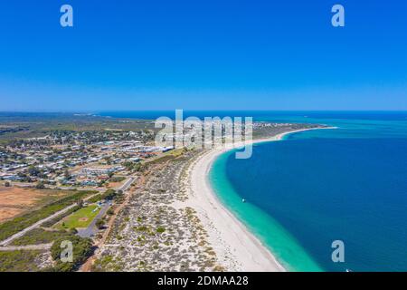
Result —
[[[227, 152], [213, 164], [213, 188], [290, 270], [407, 271], [407, 112], [185, 115], [338, 127], [256, 144], [248, 160]], [[331, 259], [334, 240], [344, 242], [344, 263]]]

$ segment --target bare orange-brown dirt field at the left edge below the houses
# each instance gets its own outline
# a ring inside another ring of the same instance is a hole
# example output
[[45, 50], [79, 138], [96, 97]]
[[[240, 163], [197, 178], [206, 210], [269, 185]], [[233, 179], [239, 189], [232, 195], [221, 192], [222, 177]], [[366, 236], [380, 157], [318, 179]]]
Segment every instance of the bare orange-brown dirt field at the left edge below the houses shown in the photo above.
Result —
[[22, 189], [0, 187], [0, 223], [41, 208], [71, 192], [52, 189]]

